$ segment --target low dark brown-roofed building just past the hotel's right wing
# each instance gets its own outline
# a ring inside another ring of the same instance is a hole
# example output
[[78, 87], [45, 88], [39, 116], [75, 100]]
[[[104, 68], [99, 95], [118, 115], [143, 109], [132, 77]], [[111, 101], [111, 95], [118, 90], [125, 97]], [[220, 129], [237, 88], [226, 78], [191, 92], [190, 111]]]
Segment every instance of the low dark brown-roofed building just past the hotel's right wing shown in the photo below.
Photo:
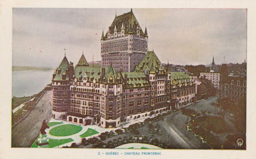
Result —
[[215, 95], [216, 88], [211, 81], [201, 77], [195, 80], [195, 93], [196, 100], [200, 100]]

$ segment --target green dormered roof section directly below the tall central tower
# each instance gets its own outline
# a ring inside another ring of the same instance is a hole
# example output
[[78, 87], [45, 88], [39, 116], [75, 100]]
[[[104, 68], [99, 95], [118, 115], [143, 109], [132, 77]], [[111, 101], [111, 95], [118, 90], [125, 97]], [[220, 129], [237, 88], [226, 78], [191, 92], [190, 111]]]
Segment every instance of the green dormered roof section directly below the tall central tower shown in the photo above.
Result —
[[125, 74], [127, 75], [126, 87], [128, 88], [137, 88], [149, 86], [147, 76], [144, 72], [122, 72], [123, 82], [125, 81]]

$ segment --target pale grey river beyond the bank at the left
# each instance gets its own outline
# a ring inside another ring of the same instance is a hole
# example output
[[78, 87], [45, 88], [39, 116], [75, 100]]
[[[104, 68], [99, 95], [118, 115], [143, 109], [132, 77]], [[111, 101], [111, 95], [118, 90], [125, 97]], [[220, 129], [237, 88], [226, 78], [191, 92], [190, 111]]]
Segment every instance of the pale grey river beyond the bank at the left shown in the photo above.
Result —
[[52, 81], [54, 70], [12, 71], [12, 97], [32, 96]]

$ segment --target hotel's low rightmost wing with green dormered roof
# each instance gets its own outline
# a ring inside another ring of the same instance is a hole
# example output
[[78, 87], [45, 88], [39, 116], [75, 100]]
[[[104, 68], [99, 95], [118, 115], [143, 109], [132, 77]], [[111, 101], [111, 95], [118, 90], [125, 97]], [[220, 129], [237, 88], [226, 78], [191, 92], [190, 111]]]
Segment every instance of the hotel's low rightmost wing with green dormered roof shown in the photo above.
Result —
[[171, 72], [171, 105], [177, 108], [195, 101], [195, 83], [185, 72]]

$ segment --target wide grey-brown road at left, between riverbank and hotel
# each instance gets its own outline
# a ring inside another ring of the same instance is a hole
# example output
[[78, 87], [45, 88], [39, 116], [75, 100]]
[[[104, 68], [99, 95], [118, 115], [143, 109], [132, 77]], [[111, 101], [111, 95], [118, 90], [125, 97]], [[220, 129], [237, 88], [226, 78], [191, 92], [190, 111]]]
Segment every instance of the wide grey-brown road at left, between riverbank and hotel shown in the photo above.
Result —
[[[52, 118], [52, 90], [47, 90], [28, 117], [12, 128], [12, 147], [30, 147], [41, 129]], [[43, 106], [44, 105], [44, 106]]]

